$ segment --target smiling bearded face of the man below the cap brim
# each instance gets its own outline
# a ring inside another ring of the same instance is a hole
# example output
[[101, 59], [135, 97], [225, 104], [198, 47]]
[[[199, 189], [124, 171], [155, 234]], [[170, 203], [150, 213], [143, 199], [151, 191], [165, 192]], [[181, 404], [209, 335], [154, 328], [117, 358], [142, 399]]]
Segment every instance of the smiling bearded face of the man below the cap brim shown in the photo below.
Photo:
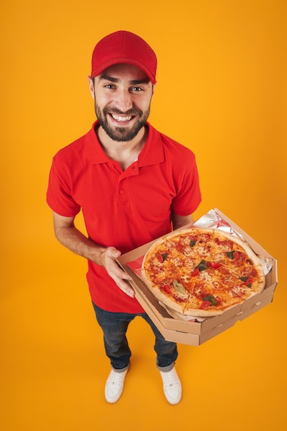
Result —
[[153, 86], [138, 67], [117, 64], [89, 78], [95, 114], [104, 132], [119, 142], [133, 140], [150, 114]]

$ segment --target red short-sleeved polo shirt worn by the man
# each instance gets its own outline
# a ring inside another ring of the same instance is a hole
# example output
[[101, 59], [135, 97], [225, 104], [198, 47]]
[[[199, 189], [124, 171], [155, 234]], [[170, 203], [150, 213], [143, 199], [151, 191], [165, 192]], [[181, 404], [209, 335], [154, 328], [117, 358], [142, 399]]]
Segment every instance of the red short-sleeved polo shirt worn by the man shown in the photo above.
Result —
[[[194, 154], [148, 124], [148, 139], [125, 171], [108, 158], [95, 125], [58, 151], [49, 176], [47, 203], [72, 217], [82, 209], [89, 238], [122, 253], [171, 231], [171, 212], [193, 213], [200, 203]], [[93, 302], [106, 311], [143, 313], [137, 299], [123, 293], [102, 266], [89, 261]]]

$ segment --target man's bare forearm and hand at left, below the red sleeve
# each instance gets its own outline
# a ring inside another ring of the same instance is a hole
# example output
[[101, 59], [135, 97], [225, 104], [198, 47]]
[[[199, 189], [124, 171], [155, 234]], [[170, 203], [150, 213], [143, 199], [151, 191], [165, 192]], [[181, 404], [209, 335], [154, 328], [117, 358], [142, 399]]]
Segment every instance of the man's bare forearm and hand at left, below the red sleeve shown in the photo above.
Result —
[[54, 231], [58, 241], [82, 257], [98, 265], [104, 266], [106, 272], [115, 284], [130, 297], [135, 297], [135, 291], [124, 280], [131, 280], [130, 276], [119, 268], [115, 259], [121, 252], [113, 246], [104, 247], [86, 238], [74, 224], [75, 217], [64, 217], [53, 212]]

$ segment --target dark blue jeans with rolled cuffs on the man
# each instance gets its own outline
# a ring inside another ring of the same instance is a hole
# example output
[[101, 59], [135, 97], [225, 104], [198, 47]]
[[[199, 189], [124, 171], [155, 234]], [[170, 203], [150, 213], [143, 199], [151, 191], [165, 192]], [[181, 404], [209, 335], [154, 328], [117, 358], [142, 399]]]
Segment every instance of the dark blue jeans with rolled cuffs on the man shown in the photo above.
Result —
[[126, 330], [130, 322], [139, 316], [148, 322], [155, 335], [154, 350], [157, 353], [157, 368], [170, 371], [174, 366], [178, 352], [176, 343], [165, 341], [157, 327], [146, 313], [111, 313], [93, 304], [97, 322], [104, 333], [104, 347], [106, 355], [114, 370], [124, 371], [130, 364], [131, 351], [126, 339]]

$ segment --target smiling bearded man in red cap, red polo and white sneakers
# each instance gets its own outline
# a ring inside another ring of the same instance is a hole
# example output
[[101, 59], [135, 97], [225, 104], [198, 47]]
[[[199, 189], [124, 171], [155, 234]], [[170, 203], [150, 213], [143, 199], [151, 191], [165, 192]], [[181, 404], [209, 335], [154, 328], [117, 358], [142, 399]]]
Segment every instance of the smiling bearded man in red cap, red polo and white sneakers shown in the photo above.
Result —
[[[115, 262], [121, 253], [191, 223], [200, 203], [194, 154], [147, 123], [156, 70], [152, 48], [131, 32], [97, 43], [89, 76], [97, 121], [58, 151], [49, 176], [56, 238], [88, 260], [89, 291], [111, 361], [109, 403], [122, 395], [131, 356], [126, 330], [136, 316], [154, 332], [166, 399], [181, 400], [176, 344], [159, 333]], [[74, 225], [81, 209], [89, 238]]]

